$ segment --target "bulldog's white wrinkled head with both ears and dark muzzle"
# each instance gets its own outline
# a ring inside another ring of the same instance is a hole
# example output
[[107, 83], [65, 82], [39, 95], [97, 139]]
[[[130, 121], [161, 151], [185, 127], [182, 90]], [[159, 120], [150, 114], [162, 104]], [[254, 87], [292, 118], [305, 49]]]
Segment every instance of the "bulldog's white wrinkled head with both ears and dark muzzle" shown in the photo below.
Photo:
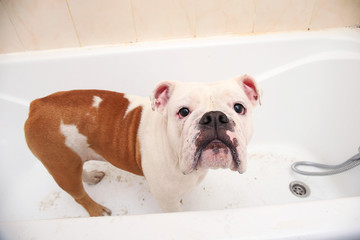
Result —
[[216, 83], [160, 83], [153, 109], [167, 119], [168, 140], [184, 174], [200, 168], [246, 170], [256, 82], [242, 76]]

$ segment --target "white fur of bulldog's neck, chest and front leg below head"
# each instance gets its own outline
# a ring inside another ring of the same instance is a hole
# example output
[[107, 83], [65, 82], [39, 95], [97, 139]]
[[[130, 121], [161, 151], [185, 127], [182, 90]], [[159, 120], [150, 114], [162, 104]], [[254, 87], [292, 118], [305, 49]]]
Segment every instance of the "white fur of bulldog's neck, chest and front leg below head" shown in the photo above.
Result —
[[142, 168], [152, 195], [164, 212], [180, 211], [180, 200], [205, 177], [207, 170], [184, 175], [179, 156], [167, 138], [164, 118], [149, 107], [139, 128]]

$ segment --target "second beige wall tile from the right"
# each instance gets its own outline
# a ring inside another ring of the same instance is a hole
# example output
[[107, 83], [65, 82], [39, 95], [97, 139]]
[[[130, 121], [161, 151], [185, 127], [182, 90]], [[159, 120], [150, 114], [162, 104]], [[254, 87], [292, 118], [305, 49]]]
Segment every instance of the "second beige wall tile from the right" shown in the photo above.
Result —
[[255, 33], [307, 30], [315, 0], [258, 0]]

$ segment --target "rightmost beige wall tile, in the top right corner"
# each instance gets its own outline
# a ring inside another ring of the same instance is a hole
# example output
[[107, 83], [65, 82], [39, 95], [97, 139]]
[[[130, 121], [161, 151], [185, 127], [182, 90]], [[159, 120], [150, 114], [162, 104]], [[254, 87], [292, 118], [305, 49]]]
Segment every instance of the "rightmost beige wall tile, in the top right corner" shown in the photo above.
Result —
[[311, 29], [355, 26], [360, 24], [359, 0], [317, 0]]

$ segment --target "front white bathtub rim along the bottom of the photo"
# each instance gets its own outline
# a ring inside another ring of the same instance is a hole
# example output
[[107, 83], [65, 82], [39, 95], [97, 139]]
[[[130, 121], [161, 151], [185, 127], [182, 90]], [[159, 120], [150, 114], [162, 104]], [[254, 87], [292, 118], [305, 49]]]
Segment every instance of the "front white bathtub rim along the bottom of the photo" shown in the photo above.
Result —
[[[47, 239], [55, 232], [53, 239], [117, 239], [119, 236], [135, 239], [338, 239], [360, 236], [360, 212], [354, 211], [359, 208], [360, 197], [351, 197], [199, 212], [0, 222], [0, 230], [4, 236], [15, 234], [17, 239]], [[298, 215], [292, 214], [294, 211]], [[161, 223], [168, 224], [167, 229]], [[144, 227], [134, 231], [139, 226]], [[191, 231], [194, 226], [195, 232]], [[184, 229], [189, 231], [184, 232]]]

